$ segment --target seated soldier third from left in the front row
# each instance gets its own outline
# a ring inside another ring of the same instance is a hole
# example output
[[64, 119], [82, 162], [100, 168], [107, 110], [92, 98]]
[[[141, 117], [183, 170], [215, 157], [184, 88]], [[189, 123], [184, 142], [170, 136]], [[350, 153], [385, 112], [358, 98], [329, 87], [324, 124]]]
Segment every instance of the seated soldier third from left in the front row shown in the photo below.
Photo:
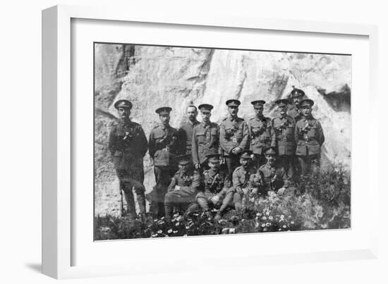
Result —
[[249, 185], [250, 175], [256, 173], [255, 167], [252, 165], [253, 153], [250, 150], [241, 152], [240, 164], [233, 172], [233, 187], [234, 197], [233, 203], [236, 210], [243, 209], [245, 202], [243, 199], [251, 194], [251, 188]]

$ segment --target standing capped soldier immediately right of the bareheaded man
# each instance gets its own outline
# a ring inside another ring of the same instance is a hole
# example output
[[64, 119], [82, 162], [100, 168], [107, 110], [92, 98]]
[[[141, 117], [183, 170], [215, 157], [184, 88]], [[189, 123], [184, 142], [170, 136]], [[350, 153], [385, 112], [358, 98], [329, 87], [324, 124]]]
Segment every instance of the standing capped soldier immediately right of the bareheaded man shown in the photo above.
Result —
[[206, 156], [218, 154], [219, 149], [219, 126], [210, 121], [211, 104], [201, 104], [200, 109], [202, 122], [193, 129], [192, 155], [196, 169], [207, 168]]

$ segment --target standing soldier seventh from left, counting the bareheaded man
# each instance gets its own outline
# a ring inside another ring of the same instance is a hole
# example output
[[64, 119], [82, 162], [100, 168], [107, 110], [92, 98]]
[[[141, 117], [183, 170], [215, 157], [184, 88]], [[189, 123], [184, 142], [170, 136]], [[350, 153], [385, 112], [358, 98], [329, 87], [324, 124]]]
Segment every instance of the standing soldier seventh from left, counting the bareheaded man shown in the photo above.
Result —
[[289, 180], [293, 179], [295, 164], [295, 120], [287, 116], [287, 99], [276, 101], [280, 115], [272, 120], [272, 129], [274, 130], [277, 144], [277, 154], [279, 164], [283, 166]]

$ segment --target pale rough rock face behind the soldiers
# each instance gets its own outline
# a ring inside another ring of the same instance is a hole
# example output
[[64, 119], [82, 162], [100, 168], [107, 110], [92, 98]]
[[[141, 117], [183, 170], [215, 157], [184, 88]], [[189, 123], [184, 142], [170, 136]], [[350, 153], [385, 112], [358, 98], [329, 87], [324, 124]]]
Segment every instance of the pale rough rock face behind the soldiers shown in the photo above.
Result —
[[[225, 101], [239, 99], [239, 115], [253, 116], [250, 101], [264, 99], [265, 116], [276, 115], [274, 101], [287, 98], [292, 86], [315, 101], [313, 116], [326, 141], [324, 167], [351, 164], [351, 56], [234, 51], [119, 44], [95, 45], [95, 214], [119, 214], [120, 195], [107, 149], [114, 102], [129, 99], [131, 118], [148, 136], [158, 123], [155, 109], [171, 106], [171, 125], [184, 121], [186, 106], [214, 105], [212, 121], [227, 114]], [[145, 187], [154, 185], [148, 154]]]

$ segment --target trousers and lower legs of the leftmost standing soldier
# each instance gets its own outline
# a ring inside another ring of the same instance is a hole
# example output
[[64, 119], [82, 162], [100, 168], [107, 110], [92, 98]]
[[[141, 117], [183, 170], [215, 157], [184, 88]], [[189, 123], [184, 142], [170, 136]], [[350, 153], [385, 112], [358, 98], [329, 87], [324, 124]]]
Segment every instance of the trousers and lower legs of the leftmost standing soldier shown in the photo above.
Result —
[[127, 213], [132, 216], [136, 215], [135, 199], [133, 190], [136, 193], [140, 214], [145, 214], [145, 187], [143, 185], [144, 172], [131, 171], [128, 169], [116, 169], [117, 177], [119, 178], [120, 190], [123, 190], [126, 198]]

